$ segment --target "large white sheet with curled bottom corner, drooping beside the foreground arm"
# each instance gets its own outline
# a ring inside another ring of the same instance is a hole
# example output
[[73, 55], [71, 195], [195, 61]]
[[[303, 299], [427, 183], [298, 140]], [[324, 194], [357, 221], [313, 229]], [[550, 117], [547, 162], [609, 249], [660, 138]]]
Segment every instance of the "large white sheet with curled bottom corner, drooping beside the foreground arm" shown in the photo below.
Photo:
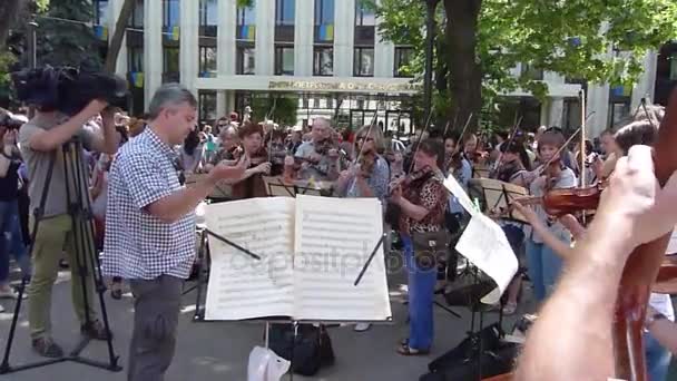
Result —
[[496, 282], [498, 289], [481, 301], [497, 303], [518, 270], [517, 256], [503, 229], [488, 216], [474, 214], [455, 248]]

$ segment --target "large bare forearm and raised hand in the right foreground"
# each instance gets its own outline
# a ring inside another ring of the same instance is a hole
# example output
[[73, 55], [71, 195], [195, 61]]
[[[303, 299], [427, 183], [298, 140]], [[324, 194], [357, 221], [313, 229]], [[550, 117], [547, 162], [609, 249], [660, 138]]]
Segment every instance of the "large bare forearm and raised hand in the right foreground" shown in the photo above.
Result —
[[597, 217], [530, 329], [516, 380], [616, 377], [610, 328], [621, 275], [635, 247], [677, 224], [677, 177], [658, 187], [651, 148], [635, 146], [618, 160], [609, 184]]

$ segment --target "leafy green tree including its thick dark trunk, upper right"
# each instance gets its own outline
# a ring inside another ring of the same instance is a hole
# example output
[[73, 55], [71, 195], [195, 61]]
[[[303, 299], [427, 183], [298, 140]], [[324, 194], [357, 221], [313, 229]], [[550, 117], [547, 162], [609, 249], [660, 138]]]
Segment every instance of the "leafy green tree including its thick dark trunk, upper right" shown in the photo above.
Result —
[[[381, 0], [372, 6], [386, 39], [415, 48], [412, 69], [421, 72], [423, 1]], [[673, 0], [444, 0], [440, 8], [444, 49], [438, 49], [436, 67], [447, 65], [449, 76], [447, 94], [438, 97], [450, 101], [448, 120], [478, 116], [482, 105], [518, 88], [542, 99], [547, 86], [530, 75], [532, 70], [632, 85], [646, 52], [677, 37]], [[608, 55], [612, 50], [622, 53]], [[513, 77], [510, 71], [520, 62], [532, 70]]]

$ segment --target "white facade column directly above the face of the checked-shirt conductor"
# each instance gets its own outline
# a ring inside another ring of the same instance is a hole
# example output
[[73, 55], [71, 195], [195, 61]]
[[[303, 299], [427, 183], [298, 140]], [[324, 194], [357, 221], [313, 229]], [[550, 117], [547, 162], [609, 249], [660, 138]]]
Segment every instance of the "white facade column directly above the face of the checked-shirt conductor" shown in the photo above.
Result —
[[197, 1], [180, 2], [179, 70], [181, 84], [195, 96], [195, 81], [199, 71], [199, 9]]

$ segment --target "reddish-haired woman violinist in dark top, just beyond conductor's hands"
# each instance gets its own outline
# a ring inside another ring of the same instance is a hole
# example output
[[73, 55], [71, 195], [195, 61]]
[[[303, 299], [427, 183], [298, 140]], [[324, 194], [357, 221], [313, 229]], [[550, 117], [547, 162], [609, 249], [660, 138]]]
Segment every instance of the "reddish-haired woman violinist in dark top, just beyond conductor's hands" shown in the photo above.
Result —
[[244, 121], [239, 127], [241, 147], [233, 153], [236, 164], [243, 156], [247, 156], [249, 167], [243, 177], [233, 184], [233, 199], [244, 199], [253, 197], [266, 197], [266, 187], [262, 178], [263, 175], [271, 173], [268, 154], [263, 146], [263, 127], [251, 121]]

